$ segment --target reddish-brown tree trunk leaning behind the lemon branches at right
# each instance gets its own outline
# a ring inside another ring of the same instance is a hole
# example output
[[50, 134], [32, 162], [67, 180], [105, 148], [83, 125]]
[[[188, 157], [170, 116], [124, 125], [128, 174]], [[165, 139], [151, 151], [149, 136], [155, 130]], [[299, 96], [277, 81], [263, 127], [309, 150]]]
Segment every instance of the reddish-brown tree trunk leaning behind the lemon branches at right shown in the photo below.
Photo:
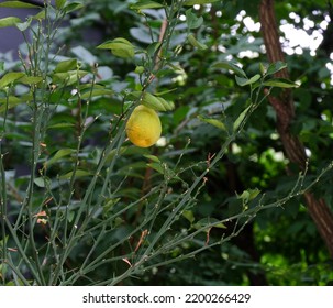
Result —
[[[274, 0], [262, 0], [259, 20], [268, 61], [270, 63], [277, 61], [284, 62], [285, 57], [279, 42]], [[287, 68], [277, 73], [276, 77], [288, 78], [289, 74]], [[269, 96], [268, 100], [277, 114], [277, 131], [280, 135], [287, 157], [291, 163], [297, 164], [301, 170], [304, 170], [307, 165], [304, 145], [300, 139], [290, 131], [290, 123], [295, 117], [292, 91], [290, 89], [282, 90], [279, 97]], [[309, 213], [325, 242], [331, 257], [333, 257], [333, 213], [325, 200], [315, 199], [311, 191], [306, 193], [304, 198]]]

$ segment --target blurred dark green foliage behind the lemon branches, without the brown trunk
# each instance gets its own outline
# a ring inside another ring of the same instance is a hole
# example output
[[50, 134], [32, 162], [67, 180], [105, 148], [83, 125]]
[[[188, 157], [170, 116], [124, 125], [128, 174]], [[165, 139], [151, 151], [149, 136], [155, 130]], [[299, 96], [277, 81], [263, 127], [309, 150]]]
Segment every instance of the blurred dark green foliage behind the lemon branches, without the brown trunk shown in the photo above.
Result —
[[[135, 46], [147, 48], [151, 35], [158, 40], [165, 12], [163, 9], [147, 9], [137, 14], [130, 9], [131, 4], [136, 2], [134, 0], [80, 2], [82, 8], [70, 13], [59, 26], [53, 52], [56, 53], [60, 48], [62, 56], [77, 58], [82, 68], [98, 64], [99, 82], [112, 90], [110, 96], [97, 96], [90, 105], [87, 119], [91, 120], [93, 125], [86, 132], [81, 154], [86, 155], [85, 168], [89, 169], [89, 165], [95, 164], [108, 140], [110, 125], [116, 121], [116, 114], [121, 113], [123, 94], [129, 88], [137, 88], [138, 78], [134, 73], [135, 63], [96, 46], [108, 40], [124, 37]], [[165, 67], [159, 72], [156, 91], [166, 92], [164, 97], [175, 103], [175, 110], [160, 113], [163, 139], [156, 146], [138, 150], [129, 145], [123, 152], [115, 166], [114, 177], [115, 183], [122, 184], [120, 196], [135, 200], [158, 183], [158, 173], [146, 167], [147, 160], [143, 160], [143, 154], [155, 155], [173, 165], [182, 153], [181, 155], [185, 155], [181, 164], [186, 167], [193, 162], [207, 161], [219, 151], [225, 134], [218, 128], [198, 120], [198, 116], [231, 121], [230, 119], [235, 120], [244, 110], [248, 89], [237, 86], [231, 72], [221, 74], [221, 70], [212, 67], [221, 61], [232, 61], [241, 64], [248, 76], [253, 76], [259, 70], [260, 63], [267, 64], [259, 32], [258, 4], [258, 0], [238, 0], [193, 7], [197, 16], [202, 16], [203, 24], [191, 32], [208, 48], [201, 51], [187, 42], [182, 50], [178, 51], [174, 67]], [[281, 0], [276, 1], [275, 8], [290, 78], [301, 84], [292, 90], [297, 110], [292, 131], [307, 147], [310, 161], [304, 179], [307, 183], [332, 161], [333, 12], [330, 1], [324, 0], [297, 0], [292, 3]], [[148, 16], [152, 33], [146, 25], [145, 15]], [[187, 38], [185, 11], [179, 19], [184, 20], [184, 23], [180, 22], [173, 34], [170, 50], [174, 51]], [[24, 45], [20, 48], [24, 55]], [[7, 69], [20, 66], [16, 51], [2, 53], [1, 59]], [[51, 119], [51, 129], [44, 140], [49, 153], [55, 153], [59, 144], [64, 148], [70, 148], [76, 142], [76, 134], [73, 132], [77, 121], [76, 106], [70, 101], [70, 97], [65, 96], [62, 99], [64, 102], [59, 103], [60, 108]], [[22, 145], [30, 146], [24, 142], [31, 127], [24, 108], [18, 106], [11, 112], [8, 121], [11, 135], [7, 139], [4, 152], [10, 148], [8, 151], [11, 154], [5, 156], [5, 166], [13, 172], [10, 188], [12, 190], [9, 194], [12, 196], [11, 206], [14, 206], [20, 202], [18, 191], [24, 189], [24, 178], [29, 173], [29, 157], [27, 153], [22, 151]], [[191, 216], [196, 219], [214, 217], [222, 220], [236, 213], [242, 208], [237, 194], [245, 189], [264, 191], [267, 202], [288, 195], [298, 175], [288, 175], [286, 172], [287, 167], [292, 166], [284, 154], [275, 122], [271, 106], [264, 101], [230, 145], [227, 155], [209, 174], [206, 187], [196, 196], [187, 219], [179, 220], [173, 228], [187, 230]], [[56, 127], [58, 123], [69, 123], [73, 127], [64, 125], [59, 129]], [[67, 167], [68, 162], [64, 160], [60, 165], [55, 164], [51, 173], [56, 175], [59, 169], [64, 172]], [[121, 183], [129, 169], [131, 180]], [[152, 174], [147, 176], [147, 173]], [[196, 175], [188, 172], [185, 176], [190, 179]], [[177, 186], [181, 186], [181, 183], [173, 187], [175, 194]], [[79, 199], [86, 189], [85, 178], [77, 182], [75, 187], [76, 197]], [[332, 172], [329, 172], [313, 189], [315, 196], [324, 197], [333, 210], [332, 187]], [[41, 196], [41, 199], [43, 197]], [[137, 216], [141, 216], [140, 210], [129, 211], [122, 219], [131, 226], [137, 221]], [[155, 223], [158, 226], [162, 222]], [[124, 237], [127, 232], [127, 227], [119, 223], [121, 228], [112, 233], [113, 238], [110, 235], [113, 240]], [[233, 230], [232, 222], [227, 230]], [[42, 227], [40, 232], [41, 237], [44, 237], [45, 230]], [[218, 239], [222, 232], [225, 232], [224, 229], [213, 228], [210, 237]], [[103, 244], [109, 245], [109, 240], [104, 239]], [[196, 241], [182, 243], [171, 253], [175, 257], [185, 255], [197, 244]], [[85, 260], [87, 246], [88, 242], [79, 245], [70, 255], [67, 260], [69, 268], [75, 268]], [[103, 249], [101, 245], [96, 253]], [[119, 262], [116, 271], [121, 272], [126, 266], [124, 262]], [[108, 271], [103, 267], [97, 268], [93, 276], [96, 279], [106, 279], [106, 272], [110, 276], [114, 268]], [[85, 279], [78, 283], [87, 284]], [[260, 211], [237, 237], [222, 245], [204, 250], [177, 263], [144, 271], [135, 277], [127, 277], [122, 284], [332, 285], [333, 263], [300, 196], [284, 207]]]

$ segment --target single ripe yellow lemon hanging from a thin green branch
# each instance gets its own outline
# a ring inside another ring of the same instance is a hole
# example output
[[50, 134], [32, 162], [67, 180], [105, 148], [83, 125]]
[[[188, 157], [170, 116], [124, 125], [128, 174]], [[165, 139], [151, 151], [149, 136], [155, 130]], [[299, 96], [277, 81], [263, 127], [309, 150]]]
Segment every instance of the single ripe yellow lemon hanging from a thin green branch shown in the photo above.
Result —
[[160, 136], [162, 125], [154, 109], [140, 105], [134, 108], [126, 123], [126, 134], [132, 143], [148, 147]]

